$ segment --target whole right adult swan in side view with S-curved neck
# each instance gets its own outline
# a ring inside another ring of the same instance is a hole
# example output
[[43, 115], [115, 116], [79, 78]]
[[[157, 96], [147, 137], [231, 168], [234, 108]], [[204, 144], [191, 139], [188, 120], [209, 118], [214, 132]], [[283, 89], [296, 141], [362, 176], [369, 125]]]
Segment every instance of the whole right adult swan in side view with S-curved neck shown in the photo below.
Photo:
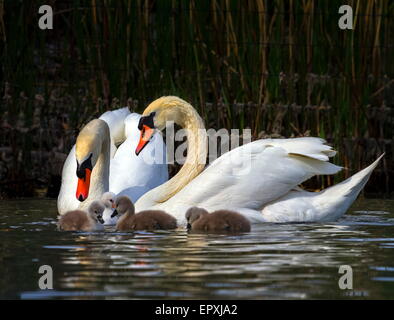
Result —
[[[327, 221], [346, 212], [368, 181], [379, 159], [344, 182], [322, 192], [300, 190], [314, 175], [342, 168], [328, 162], [335, 151], [320, 138], [262, 139], [235, 148], [203, 172], [207, 137], [203, 121], [186, 101], [162, 97], [144, 111], [136, 154], [149, 144], [155, 130], [172, 120], [187, 129], [185, 165], [169, 181], [144, 194], [136, 210], [159, 209], [185, 225], [185, 212], [198, 204], [206, 210], [235, 210], [251, 222]], [[244, 170], [245, 169], [245, 170]]]

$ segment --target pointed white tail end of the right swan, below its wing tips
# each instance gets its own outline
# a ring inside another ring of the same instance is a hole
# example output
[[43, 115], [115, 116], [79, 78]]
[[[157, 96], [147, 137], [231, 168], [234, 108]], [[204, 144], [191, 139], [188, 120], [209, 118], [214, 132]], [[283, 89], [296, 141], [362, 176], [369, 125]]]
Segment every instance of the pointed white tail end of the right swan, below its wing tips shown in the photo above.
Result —
[[290, 191], [262, 209], [269, 222], [323, 222], [340, 218], [356, 200], [384, 154], [367, 168], [320, 192]]

